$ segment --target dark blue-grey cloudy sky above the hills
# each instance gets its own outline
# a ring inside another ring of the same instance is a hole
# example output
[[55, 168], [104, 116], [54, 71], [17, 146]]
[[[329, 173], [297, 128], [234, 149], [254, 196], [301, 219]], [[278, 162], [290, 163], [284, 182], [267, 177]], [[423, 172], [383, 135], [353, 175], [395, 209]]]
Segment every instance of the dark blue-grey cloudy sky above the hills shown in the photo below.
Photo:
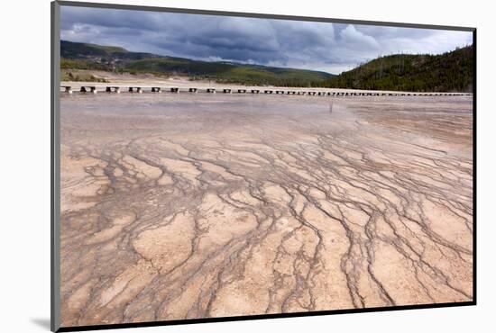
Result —
[[438, 54], [472, 44], [472, 32], [466, 31], [69, 6], [61, 7], [60, 38], [165, 56], [334, 74], [381, 55]]

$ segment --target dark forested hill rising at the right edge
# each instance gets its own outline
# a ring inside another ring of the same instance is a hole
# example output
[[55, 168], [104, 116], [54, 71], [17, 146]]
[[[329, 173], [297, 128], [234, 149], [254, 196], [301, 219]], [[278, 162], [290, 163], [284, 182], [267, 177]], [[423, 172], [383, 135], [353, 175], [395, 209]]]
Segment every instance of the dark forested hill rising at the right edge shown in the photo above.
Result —
[[471, 92], [473, 46], [436, 56], [398, 54], [376, 58], [332, 77], [322, 86], [416, 92]]

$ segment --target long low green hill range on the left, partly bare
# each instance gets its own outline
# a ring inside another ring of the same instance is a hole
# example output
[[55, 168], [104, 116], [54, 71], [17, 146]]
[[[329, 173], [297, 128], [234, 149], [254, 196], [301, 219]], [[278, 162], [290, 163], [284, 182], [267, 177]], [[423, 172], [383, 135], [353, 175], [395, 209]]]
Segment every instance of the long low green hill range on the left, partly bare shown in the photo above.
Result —
[[232, 62], [208, 62], [173, 58], [152, 53], [96, 44], [60, 41], [62, 69], [97, 69], [117, 73], [151, 73], [158, 76], [185, 75], [245, 85], [312, 86], [333, 75], [306, 69], [265, 67]]

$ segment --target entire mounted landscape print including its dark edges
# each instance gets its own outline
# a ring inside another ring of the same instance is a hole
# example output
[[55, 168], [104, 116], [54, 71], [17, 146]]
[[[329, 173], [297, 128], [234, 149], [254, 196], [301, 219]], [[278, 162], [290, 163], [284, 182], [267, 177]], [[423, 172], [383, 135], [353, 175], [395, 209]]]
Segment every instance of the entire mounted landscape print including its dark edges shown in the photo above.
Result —
[[475, 29], [62, 1], [52, 35], [52, 330], [475, 304]]

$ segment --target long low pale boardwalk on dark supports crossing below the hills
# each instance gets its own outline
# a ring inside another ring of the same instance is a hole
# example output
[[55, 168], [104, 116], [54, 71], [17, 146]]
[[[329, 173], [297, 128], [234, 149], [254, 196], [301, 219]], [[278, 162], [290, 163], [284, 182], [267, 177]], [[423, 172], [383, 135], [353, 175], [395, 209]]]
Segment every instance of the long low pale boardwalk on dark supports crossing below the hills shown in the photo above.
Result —
[[119, 94], [121, 91], [128, 93], [152, 93], [161, 94], [162, 92], [179, 93], [207, 93], [215, 94], [216, 91], [223, 94], [298, 94], [310, 96], [461, 96], [472, 95], [468, 93], [405, 93], [405, 92], [377, 92], [377, 91], [326, 91], [326, 90], [302, 90], [302, 89], [244, 89], [244, 88], [197, 88], [197, 87], [177, 87], [177, 86], [144, 86], [144, 85], [60, 85], [60, 91], [72, 94], [73, 91], [78, 91], [80, 94], [96, 94], [104, 92], [108, 94]]

